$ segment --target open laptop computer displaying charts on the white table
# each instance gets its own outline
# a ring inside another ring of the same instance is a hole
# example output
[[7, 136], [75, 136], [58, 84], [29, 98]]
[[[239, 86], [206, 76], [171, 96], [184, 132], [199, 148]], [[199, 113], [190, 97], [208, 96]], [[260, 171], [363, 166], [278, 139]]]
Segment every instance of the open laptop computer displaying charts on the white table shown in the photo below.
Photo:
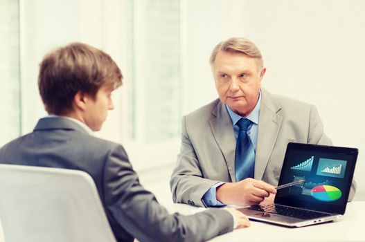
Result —
[[249, 218], [276, 225], [302, 227], [341, 218], [346, 210], [358, 149], [323, 145], [287, 145], [274, 204], [239, 210]]

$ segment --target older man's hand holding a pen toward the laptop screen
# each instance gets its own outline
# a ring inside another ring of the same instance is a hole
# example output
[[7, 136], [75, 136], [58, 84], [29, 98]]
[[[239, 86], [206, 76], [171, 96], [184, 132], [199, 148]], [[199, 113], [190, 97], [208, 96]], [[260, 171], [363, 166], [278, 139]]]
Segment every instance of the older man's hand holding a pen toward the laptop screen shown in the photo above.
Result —
[[247, 206], [261, 203], [270, 194], [276, 194], [274, 186], [262, 180], [247, 178], [217, 187], [216, 197], [224, 204]]

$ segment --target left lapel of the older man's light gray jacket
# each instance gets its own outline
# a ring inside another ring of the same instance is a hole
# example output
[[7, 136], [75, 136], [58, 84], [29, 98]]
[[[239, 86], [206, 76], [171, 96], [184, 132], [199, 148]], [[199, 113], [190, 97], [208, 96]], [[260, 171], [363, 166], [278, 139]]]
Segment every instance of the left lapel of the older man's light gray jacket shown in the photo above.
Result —
[[223, 153], [226, 166], [229, 170], [231, 180], [235, 180], [235, 136], [233, 131], [232, 120], [222, 102], [218, 102], [212, 114], [215, 118], [209, 121], [211, 130], [217, 145]]

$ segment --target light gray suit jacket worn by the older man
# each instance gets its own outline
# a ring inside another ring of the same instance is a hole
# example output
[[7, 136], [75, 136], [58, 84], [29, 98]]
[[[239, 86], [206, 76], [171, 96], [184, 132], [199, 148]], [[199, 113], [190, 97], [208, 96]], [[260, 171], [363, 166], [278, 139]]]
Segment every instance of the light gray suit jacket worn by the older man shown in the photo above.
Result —
[[[255, 177], [278, 184], [288, 142], [331, 145], [315, 106], [262, 91]], [[219, 99], [183, 117], [180, 153], [170, 187], [175, 203], [204, 206], [215, 183], [235, 182], [235, 136]], [[355, 194], [353, 181], [349, 199]]]

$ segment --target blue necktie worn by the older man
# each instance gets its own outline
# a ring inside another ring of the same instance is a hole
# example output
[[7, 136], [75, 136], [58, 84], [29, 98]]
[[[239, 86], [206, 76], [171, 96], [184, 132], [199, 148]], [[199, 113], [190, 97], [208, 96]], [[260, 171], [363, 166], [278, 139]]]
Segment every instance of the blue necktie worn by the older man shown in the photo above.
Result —
[[255, 150], [252, 142], [247, 135], [247, 128], [251, 121], [247, 118], [241, 118], [238, 122], [240, 133], [238, 134], [235, 145], [235, 181], [238, 182], [245, 178], [253, 178], [255, 168]]

